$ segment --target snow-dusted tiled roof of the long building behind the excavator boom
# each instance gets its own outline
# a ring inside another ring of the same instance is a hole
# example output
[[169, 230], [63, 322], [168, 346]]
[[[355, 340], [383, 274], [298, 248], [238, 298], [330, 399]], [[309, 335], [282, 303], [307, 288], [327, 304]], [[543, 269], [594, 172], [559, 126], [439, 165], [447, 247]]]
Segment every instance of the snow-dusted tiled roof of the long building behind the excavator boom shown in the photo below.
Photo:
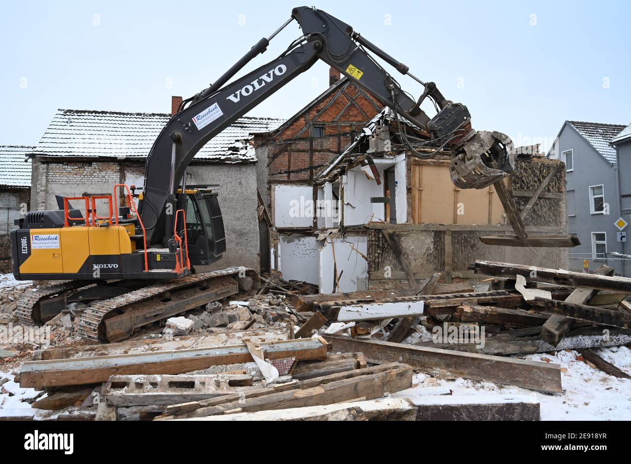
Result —
[[[167, 113], [59, 109], [33, 154], [144, 158], [169, 118]], [[252, 138], [250, 133], [271, 131], [282, 122], [271, 117], [240, 117], [206, 143], [195, 158], [227, 163], [256, 161], [254, 148], [240, 141]]]

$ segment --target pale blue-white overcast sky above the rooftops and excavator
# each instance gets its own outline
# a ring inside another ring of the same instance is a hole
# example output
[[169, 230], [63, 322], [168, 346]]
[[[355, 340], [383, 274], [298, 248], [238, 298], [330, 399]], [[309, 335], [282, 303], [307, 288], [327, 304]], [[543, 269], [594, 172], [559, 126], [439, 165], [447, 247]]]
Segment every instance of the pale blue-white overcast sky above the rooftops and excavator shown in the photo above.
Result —
[[[289, 16], [295, 1], [3, 4], [0, 145], [37, 145], [56, 109], [168, 112]], [[469, 107], [476, 129], [545, 145], [563, 121], [631, 122], [631, 2], [319, 0]], [[292, 23], [243, 72], [283, 51]], [[328, 85], [315, 64], [251, 116], [290, 117]], [[393, 74], [398, 74], [392, 71]], [[398, 74], [399, 77], [400, 74]], [[399, 78], [415, 97], [422, 88]], [[430, 115], [430, 116], [433, 116]]]

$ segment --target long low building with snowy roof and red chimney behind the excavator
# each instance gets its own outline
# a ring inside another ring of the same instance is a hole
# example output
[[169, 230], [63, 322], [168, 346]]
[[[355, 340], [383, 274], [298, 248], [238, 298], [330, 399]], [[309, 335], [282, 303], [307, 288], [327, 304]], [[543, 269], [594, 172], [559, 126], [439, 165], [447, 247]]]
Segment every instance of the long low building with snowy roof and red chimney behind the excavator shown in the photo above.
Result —
[[[177, 109], [181, 98], [174, 97]], [[112, 194], [115, 184], [143, 186], [144, 160], [170, 118], [168, 113], [59, 109], [32, 151], [32, 210], [55, 210], [55, 195]], [[187, 185], [217, 186], [227, 249], [220, 261], [200, 271], [228, 266], [259, 270], [256, 152], [250, 133], [283, 122], [241, 117], [196, 154]], [[165, 166], [164, 169], [168, 169]], [[105, 203], [97, 205], [107, 215]], [[199, 266], [198, 266], [199, 267]]]

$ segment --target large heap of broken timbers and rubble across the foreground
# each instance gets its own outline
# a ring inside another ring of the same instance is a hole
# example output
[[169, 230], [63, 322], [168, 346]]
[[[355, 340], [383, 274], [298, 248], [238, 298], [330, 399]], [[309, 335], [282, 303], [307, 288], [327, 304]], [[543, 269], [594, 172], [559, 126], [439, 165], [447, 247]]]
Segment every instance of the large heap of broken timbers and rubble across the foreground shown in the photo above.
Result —
[[[631, 378], [594, 350], [631, 343], [631, 279], [608, 266], [471, 268], [480, 282], [442, 284], [435, 273], [412, 290], [270, 288], [124, 342], [70, 336], [3, 374], [0, 419], [538, 420], [533, 397], [463, 397], [444, 382], [560, 395], [562, 367], [543, 354], [562, 350]], [[78, 309], [60, 313], [57, 330], [72, 333]]]

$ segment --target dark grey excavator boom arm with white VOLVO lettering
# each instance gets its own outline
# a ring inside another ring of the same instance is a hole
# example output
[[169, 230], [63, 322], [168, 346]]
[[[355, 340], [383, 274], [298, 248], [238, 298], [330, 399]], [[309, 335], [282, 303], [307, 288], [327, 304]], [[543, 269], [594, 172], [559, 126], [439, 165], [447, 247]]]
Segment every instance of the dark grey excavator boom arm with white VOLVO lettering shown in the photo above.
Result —
[[[196, 153], [239, 117], [307, 71], [318, 59], [338, 69], [382, 104], [391, 107], [397, 119], [401, 114], [433, 138], [445, 140], [445, 145], [450, 148], [457, 148], [475, 136], [470, 125], [471, 117], [464, 105], [445, 100], [432, 82], [424, 83], [412, 76], [406, 65], [380, 50], [346, 23], [322, 10], [306, 6], [294, 8], [292, 18], [298, 22], [303, 33], [292, 44], [293, 47], [290, 46], [287, 52], [261, 68], [218, 88], [266, 49], [269, 40], [259, 40], [218, 82], [196, 97], [189, 98], [187, 102], [191, 104], [175, 114], [155, 140], [146, 158], [145, 187], [140, 206], [150, 244], [164, 243], [169, 239], [174, 218], [167, 211], [176, 210], [175, 191]], [[425, 92], [421, 98], [415, 102], [408, 97], [366, 49], [399, 72], [422, 83]], [[439, 109], [432, 119], [420, 109], [426, 97], [432, 98]], [[457, 136], [452, 136], [456, 131]], [[169, 204], [172, 208], [167, 207]]]

